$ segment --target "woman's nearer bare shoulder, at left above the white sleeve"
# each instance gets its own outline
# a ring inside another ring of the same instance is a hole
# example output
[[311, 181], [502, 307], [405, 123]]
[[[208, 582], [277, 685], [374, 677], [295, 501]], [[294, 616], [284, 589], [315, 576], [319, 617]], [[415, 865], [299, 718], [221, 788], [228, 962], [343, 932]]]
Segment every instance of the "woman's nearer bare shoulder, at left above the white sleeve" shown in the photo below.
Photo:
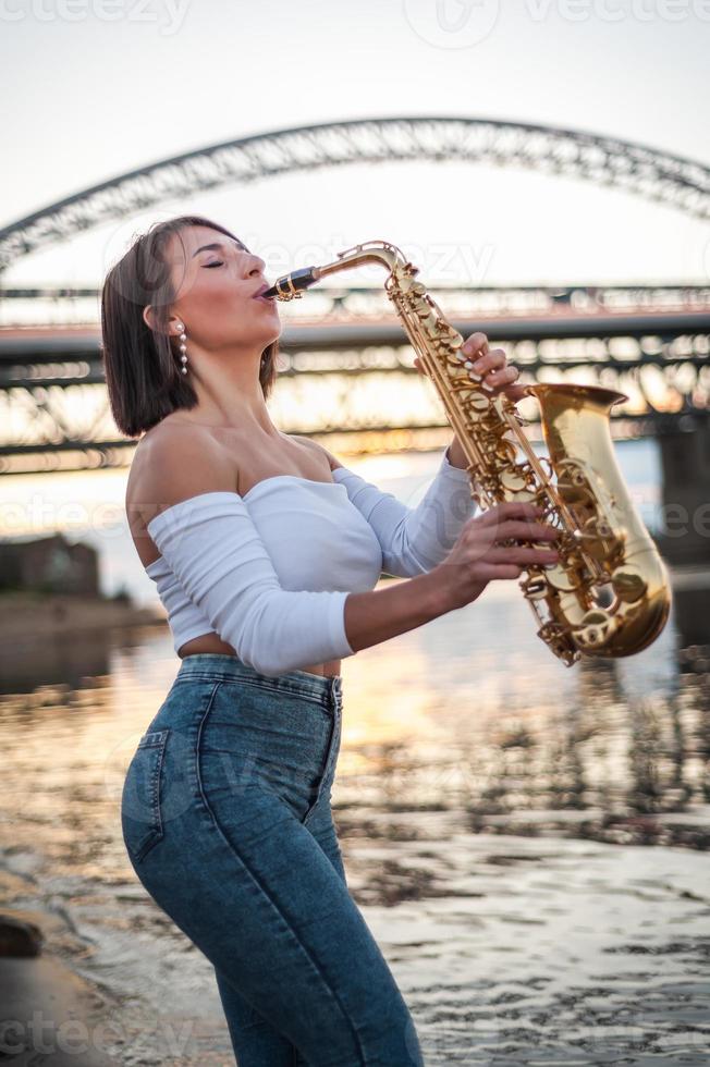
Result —
[[196, 424], [155, 426], [135, 451], [125, 505], [132, 527], [166, 507], [206, 492], [236, 492], [236, 467], [225, 450]]

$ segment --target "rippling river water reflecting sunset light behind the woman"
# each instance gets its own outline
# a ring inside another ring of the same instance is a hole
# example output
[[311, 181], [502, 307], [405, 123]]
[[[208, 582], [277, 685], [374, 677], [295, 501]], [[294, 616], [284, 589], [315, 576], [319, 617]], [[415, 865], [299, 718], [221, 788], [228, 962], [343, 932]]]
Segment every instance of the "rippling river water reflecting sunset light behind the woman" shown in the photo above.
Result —
[[[650, 519], [653, 444], [619, 454]], [[348, 465], [414, 503], [438, 456]], [[7, 517], [14, 493], [28, 520], [33, 492], [71, 500], [105, 591], [149, 603], [124, 480], [5, 479], [0, 504]], [[697, 596], [676, 596], [631, 660], [565, 669], [516, 584], [495, 582], [343, 661], [333, 806], [348, 885], [427, 1065], [710, 1062], [710, 626]], [[120, 832], [125, 766], [179, 665], [167, 628], [65, 635], [35, 650], [32, 686], [13, 685], [27, 664], [3, 665], [0, 907], [52, 918], [48, 948], [102, 991], [120, 1063], [233, 1063], [211, 967], [137, 882]]]

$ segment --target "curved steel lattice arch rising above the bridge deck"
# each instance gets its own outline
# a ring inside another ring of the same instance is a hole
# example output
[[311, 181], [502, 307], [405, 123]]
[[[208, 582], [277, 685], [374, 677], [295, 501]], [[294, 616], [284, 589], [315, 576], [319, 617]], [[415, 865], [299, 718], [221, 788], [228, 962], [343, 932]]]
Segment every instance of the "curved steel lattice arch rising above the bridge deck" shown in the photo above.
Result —
[[158, 160], [0, 230], [0, 272], [22, 256], [167, 198], [358, 162], [456, 160], [578, 177], [710, 220], [710, 167], [603, 134], [497, 119], [371, 118], [274, 130]]

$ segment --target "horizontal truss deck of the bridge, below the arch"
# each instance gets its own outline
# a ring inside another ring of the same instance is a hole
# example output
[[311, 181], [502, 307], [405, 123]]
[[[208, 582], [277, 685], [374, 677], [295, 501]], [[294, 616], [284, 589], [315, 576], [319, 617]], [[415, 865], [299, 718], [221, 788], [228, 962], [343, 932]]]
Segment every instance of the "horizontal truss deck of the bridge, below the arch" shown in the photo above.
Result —
[[[289, 319], [272, 417], [285, 432], [328, 438], [335, 450], [440, 447], [451, 433], [443, 405], [413, 369], [396, 316], [362, 314], [366, 295], [336, 291], [318, 322]], [[377, 307], [379, 291], [371, 296]], [[347, 312], [353, 301], [357, 315]], [[603, 384], [628, 395], [613, 421], [619, 437], [676, 429], [710, 409], [707, 304], [661, 314], [575, 315], [567, 305], [556, 316], [449, 317], [462, 333], [482, 329], [504, 347], [523, 381]], [[522, 410], [535, 419], [531, 402]], [[123, 466], [135, 444], [111, 418], [96, 324], [3, 331], [0, 471]]]

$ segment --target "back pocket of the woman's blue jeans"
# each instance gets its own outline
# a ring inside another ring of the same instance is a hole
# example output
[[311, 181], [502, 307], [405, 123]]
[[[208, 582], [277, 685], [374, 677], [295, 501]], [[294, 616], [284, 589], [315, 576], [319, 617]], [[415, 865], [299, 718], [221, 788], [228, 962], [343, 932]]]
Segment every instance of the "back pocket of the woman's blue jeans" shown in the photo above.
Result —
[[137, 863], [163, 835], [161, 794], [163, 756], [170, 729], [144, 734], [128, 764], [121, 798], [123, 841]]

